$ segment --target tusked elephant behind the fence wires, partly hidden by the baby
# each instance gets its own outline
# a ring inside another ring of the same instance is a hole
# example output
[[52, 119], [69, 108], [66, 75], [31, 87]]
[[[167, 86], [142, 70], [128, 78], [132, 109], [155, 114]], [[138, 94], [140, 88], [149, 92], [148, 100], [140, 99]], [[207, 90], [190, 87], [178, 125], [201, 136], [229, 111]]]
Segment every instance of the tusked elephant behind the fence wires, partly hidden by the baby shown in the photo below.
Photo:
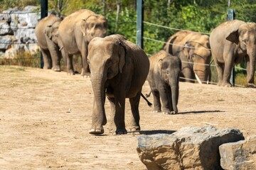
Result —
[[185, 81], [210, 81], [211, 52], [208, 35], [186, 30], [178, 31], [167, 40], [164, 50], [181, 58], [181, 77], [184, 77]]

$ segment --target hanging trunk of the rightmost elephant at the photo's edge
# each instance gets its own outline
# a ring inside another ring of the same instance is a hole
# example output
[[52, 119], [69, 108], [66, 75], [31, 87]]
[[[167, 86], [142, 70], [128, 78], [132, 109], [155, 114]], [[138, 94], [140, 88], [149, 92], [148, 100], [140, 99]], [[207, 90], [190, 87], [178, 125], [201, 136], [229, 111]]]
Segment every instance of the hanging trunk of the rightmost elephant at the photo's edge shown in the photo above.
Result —
[[249, 61], [247, 61], [247, 83], [254, 84], [256, 50], [249, 53]]

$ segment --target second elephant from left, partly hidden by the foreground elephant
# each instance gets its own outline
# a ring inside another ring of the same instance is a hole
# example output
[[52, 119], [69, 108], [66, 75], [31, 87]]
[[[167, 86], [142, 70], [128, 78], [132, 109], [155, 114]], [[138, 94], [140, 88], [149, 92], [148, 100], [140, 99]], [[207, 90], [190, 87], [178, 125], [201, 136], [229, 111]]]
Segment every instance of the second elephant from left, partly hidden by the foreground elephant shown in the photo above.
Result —
[[60, 39], [68, 52], [67, 72], [75, 74], [73, 55], [82, 55], [82, 76], [89, 76], [87, 63], [88, 44], [92, 38], [107, 35], [107, 19], [93, 11], [80, 9], [65, 17], [59, 26]]

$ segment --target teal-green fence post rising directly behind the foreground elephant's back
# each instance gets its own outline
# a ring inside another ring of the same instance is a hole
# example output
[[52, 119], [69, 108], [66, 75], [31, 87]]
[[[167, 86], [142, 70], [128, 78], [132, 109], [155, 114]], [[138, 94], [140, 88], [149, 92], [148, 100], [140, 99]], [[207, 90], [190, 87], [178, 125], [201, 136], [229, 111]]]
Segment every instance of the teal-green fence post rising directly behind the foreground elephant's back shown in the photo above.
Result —
[[143, 49], [143, 31], [144, 31], [144, 0], [137, 0], [137, 39], [136, 43]]

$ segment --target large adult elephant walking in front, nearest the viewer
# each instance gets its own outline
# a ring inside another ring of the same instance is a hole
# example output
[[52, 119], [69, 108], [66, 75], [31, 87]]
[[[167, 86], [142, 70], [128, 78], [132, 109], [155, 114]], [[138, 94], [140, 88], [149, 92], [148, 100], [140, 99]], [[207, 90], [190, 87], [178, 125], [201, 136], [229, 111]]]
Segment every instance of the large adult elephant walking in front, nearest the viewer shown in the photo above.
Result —
[[95, 96], [90, 133], [104, 132], [103, 125], [107, 123], [104, 107], [106, 96], [111, 106], [111, 131], [114, 134], [127, 133], [124, 123], [125, 98], [129, 98], [132, 108], [130, 130], [140, 130], [139, 99], [149, 72], [149, 58], [145, 52], [122, 35], [110, 35], [92, 39], [88, 62]]

